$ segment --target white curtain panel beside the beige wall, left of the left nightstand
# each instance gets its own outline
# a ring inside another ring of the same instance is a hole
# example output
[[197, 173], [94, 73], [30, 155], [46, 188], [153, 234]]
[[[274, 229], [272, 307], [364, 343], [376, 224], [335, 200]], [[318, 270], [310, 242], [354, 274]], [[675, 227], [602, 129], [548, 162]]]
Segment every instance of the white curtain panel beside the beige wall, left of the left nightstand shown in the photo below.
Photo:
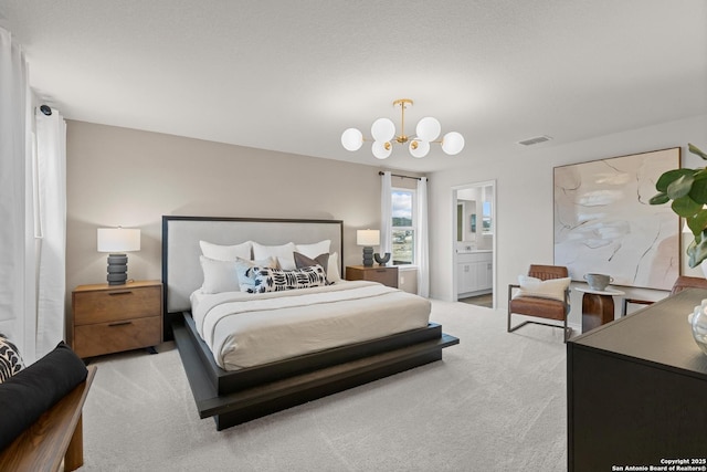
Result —
[[66, 292], [66, 123], [56, 109], [36, 119], [36, 358], [64, 339]]

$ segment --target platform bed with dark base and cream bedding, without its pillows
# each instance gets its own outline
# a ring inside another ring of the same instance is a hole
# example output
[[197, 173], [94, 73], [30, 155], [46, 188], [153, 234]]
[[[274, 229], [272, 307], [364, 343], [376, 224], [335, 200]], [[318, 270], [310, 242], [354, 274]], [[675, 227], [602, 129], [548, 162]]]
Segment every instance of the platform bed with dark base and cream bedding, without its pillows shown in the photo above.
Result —
[[[428, 322], [422, 313], [428, 301], [371, 282], [320, 284], [251, 298], [200, 293], [207, 285], [200, 241], [224, 247], [296, 241], [304, 248], [326, 240], [333, 254], [327, 279], [342, 279], [342, 229], [340, 220], [162, 217], [163, 338], [173, 339], [179, 349], [199, 416], [213, 417], [218, 430], [440, 360], [443, 348], [458, 344], [442, 326]], [[270, 313], [274, 305], [277, 316], [266, 319], [276, 318], [279, 325], [255, 325], [260, 312]], [[398, 312], [402, 315], [393, 316]], [[363, 321], [354, 322], [352, 316]], [[355, 323], [366, 326], [351, 329], [358, 337], [338, 336]], [[310, 336], [312, 324], [321, 326], [324, 335]], [[258, 336], [270, 338], [230, 334], [241, 325], [253, 325]], [[243, 348], [249, 342], [272, 348], [253, 357]], [[278, 344], [287, 346], [283, 353], [276, 352]], [[302, 346], [304, 352], [298, 350]]]

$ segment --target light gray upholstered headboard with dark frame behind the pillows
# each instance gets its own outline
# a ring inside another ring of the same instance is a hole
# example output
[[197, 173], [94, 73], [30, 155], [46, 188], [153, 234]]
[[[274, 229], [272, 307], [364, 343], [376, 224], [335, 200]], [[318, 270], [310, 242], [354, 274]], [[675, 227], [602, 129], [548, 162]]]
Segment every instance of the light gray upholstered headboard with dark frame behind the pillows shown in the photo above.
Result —
[[[203, 282], [200, 240], [228, 245], [250, 240], [276, 245], [291, 241], [310, 244], [329, 239], [330, 252], [339, 253], [339, 271], [342, 271], [342, 228], [340, 220], [162, 217], [165, 314], [190, 310], [189, 295]], [[169, 319], [165, 322], [167, 333]]]

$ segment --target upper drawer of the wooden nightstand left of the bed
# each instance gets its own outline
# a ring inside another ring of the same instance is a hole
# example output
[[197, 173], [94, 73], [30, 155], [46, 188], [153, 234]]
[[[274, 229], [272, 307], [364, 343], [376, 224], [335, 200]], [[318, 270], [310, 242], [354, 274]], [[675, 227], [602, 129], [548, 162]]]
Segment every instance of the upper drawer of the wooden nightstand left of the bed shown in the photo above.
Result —
[[161, 315], [161, 287], [74, 292], [74, 325]]

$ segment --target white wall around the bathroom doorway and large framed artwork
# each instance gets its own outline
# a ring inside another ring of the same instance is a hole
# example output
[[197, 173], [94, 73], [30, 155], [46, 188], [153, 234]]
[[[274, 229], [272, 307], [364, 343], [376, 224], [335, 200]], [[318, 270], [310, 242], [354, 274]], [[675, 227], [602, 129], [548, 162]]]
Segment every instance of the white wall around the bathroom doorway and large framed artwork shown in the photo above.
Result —
[[[676, 146], [683, 146], [684, 167], [704, 166], [701, 159], [687, 151], [687, 143], [707, 148], [707, 115], [567, 145], [553, 146], [550, 141], [537, 148], [519, 146], [513, 155], [490, 159], [485, 156], [484, 164], [479, 159], [479, 164], [463, 169], [432, 174], [430, 204], [435, 211], [430, 211], [431, 296], [447, 301], [453, 298], [453, 218], [456, 214], [452, 203], [453, 187], [496, 179], [495, 295], [496, 306], [505, 311], [508, 284], [515, 283], [518, 274], [526, 273], [531, 263], [552, 263], [553, 167]], [[572, 292], [569, 322], [577, 327], [581, 326], [581, 297], [576, 291]], [[626, 289], [626, 292], [647, 300], [666, 295], [661, 291]]]

